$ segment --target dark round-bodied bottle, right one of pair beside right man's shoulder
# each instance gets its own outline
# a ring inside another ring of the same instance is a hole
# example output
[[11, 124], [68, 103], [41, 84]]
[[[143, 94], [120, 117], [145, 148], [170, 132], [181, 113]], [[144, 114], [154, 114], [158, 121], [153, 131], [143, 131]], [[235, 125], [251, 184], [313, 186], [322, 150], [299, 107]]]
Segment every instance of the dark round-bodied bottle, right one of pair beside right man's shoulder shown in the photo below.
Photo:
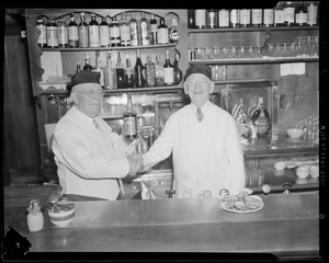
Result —
[[257, 137], [266, 137], [270, 132], [270, 114], [263, 105], [263, 98], [258, 99], [258, 108], [251, 115], [252, 125], [256, 127]]

